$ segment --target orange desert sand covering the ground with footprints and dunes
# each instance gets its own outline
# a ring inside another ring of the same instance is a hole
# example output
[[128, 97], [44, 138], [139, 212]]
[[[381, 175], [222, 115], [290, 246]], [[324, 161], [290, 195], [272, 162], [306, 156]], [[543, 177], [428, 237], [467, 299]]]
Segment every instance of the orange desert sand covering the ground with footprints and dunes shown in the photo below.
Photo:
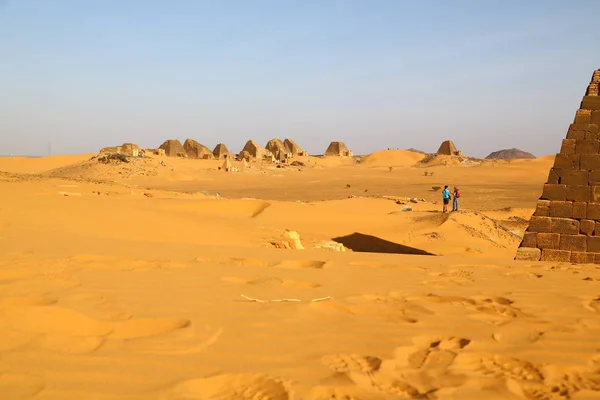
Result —
[[600, 270], [513, 260], [553, 157], [92, 156], [0, 158], [2, 399], [600, 398]]

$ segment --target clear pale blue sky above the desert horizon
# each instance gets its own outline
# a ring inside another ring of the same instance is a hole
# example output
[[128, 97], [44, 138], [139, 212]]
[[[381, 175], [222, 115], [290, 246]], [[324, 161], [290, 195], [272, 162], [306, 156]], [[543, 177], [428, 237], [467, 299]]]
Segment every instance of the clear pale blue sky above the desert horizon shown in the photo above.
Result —
[[0, 0], [0, 154], [560, 148], [598, 0]]

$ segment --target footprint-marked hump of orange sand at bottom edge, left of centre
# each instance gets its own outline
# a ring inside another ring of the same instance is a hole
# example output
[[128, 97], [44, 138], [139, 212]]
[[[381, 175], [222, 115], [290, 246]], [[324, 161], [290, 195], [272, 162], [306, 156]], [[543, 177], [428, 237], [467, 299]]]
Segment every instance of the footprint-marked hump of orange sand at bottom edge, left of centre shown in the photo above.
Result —
[[264, 374], [222, 374], [175, 385], [167, 399], [290, 400], [289, 384]]

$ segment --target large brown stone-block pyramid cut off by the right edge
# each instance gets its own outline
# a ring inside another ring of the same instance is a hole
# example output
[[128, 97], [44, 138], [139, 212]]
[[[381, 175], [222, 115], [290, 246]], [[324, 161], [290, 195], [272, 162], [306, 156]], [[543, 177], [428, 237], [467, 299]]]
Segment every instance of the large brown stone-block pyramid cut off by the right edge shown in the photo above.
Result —
[[600, 69], [562, 141], [515, 259], [600, 264]]

